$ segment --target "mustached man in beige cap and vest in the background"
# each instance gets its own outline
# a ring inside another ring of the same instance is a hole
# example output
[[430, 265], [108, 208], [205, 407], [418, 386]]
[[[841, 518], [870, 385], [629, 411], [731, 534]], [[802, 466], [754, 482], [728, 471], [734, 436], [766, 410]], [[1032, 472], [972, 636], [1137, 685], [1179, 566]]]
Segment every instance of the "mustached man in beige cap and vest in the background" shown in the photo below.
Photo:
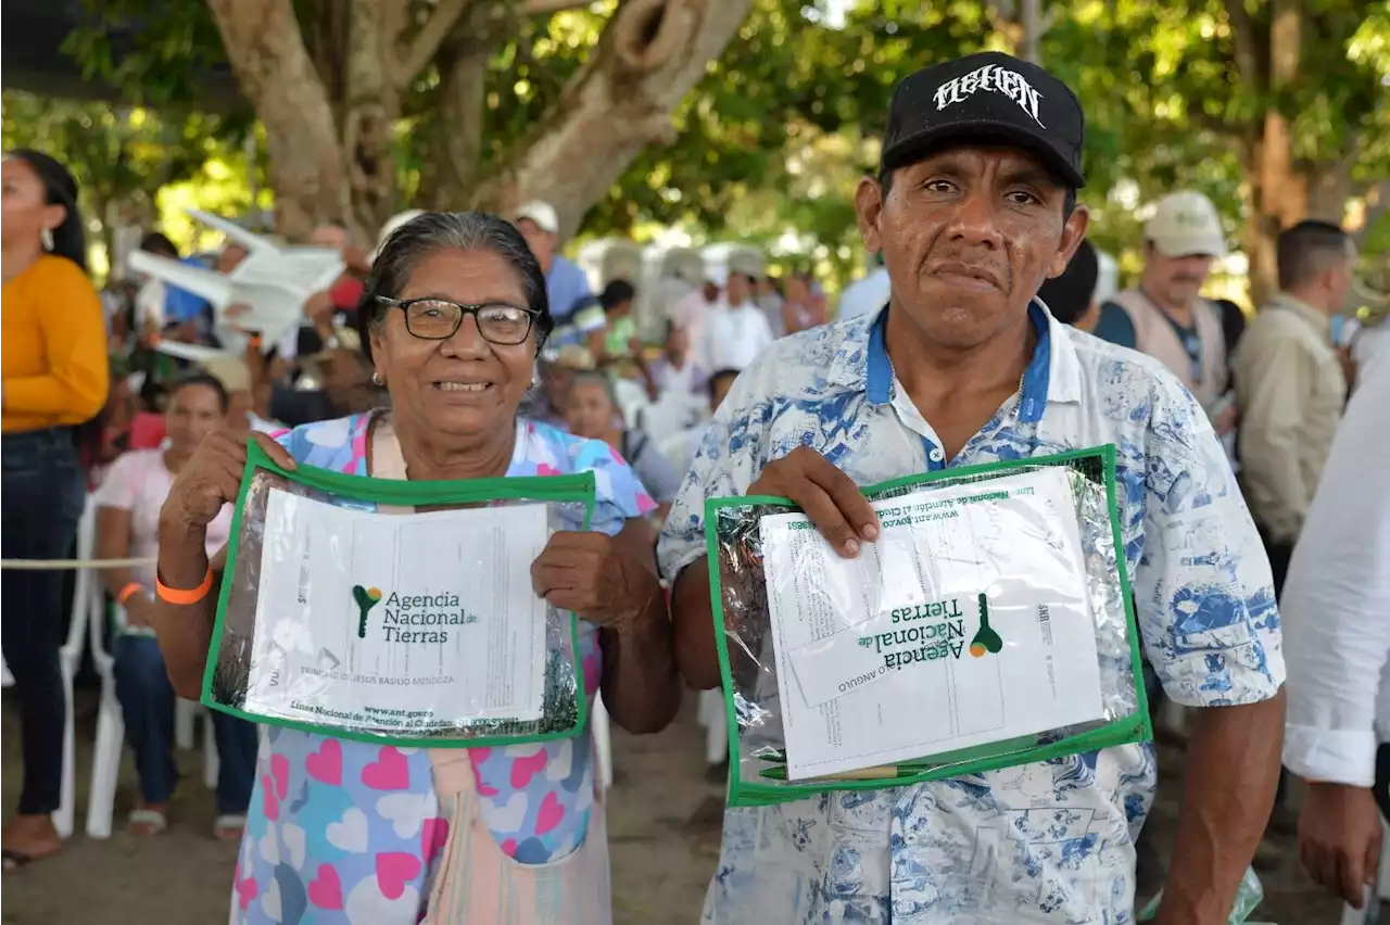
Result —
[[1198, 292], [1212, 264], [1226, 256], [1216, 207], [1201, 193], [1170, 193], [1144, 225], [1144, 275], [1138, 288], [1101, 306], [1095, 336], [1147, 353], [1172, 369], [1197, 397], [1220, 435], [1236, 422], [1227, 396], [1226, 338], [1220, 310]]

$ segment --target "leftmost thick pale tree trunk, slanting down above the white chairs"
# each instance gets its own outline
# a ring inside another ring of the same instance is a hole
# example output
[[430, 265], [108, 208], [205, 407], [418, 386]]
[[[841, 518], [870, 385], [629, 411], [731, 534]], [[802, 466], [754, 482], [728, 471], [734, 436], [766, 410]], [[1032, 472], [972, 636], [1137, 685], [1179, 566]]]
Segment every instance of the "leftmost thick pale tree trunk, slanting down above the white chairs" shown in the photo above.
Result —
[[303, 238], [348, 214], [348, 183], [328, 94], [291, 0], [207, 0], [242, 92], [265, 126], [275, 228]]

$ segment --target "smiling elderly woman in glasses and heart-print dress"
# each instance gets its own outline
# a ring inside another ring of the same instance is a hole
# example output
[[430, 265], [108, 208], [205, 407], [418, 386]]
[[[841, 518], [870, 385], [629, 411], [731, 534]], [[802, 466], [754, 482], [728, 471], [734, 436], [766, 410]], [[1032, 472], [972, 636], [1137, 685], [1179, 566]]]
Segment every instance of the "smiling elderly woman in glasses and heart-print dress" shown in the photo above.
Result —
[[[391, 411], [252, 439], [285, 468], [377, 478], [592, 471], [594, 532], [555, 533], [531, 567], [532, 583], [582, 617], [585, 688], [602, 686], [613, 719], [638, 733], [666, 726], [680, 685], [641, 519], [655, 504], [606, 444], [518, 417], [552, 319], [545, 278], [517, 231], [475, 212], [414, 218], [377, 257], [359, 324]], [[203, 538], [236, 497], [245, 460], [245, 444], [214, 433], [161, 515], [154, 628], [185, 696], [199, 692], [221, 567]], [[610, 921], [587, 732], [543, 744], [416, 750], [272, 728], [257, 779], [232, 922]]]

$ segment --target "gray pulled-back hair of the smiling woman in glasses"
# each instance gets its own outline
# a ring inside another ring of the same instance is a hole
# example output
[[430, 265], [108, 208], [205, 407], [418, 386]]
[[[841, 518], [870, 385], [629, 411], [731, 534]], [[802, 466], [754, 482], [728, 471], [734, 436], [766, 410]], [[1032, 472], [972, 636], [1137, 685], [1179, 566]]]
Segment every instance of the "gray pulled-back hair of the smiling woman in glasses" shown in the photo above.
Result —
[[539, 312], [532, 325], [539, 354], [555, 328], [555, 318], [545, 274], [521, 232], [488, 212], [421, 212], [395, 229], [371, 262], [371, 275], [357, 303], [357, 333], [367, 361], [371, 361], [371, 331], [379, 329], [391, 310], [381, 299], [399, 299], [416, 265], [439, 250], [486, 250], [507, 261], [521, 279], [527, 307]]

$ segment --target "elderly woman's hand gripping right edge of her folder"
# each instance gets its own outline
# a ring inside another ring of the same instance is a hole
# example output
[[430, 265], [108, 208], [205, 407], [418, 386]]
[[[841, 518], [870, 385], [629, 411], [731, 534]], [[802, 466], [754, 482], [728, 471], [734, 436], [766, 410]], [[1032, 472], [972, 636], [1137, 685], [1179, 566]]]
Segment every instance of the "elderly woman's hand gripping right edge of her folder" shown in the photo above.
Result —
[[531, 564], [531, 585], [552, 607], [596, 626], [627, 629], [662, 585], [624, 543], [603, 533], [557, 532]]

